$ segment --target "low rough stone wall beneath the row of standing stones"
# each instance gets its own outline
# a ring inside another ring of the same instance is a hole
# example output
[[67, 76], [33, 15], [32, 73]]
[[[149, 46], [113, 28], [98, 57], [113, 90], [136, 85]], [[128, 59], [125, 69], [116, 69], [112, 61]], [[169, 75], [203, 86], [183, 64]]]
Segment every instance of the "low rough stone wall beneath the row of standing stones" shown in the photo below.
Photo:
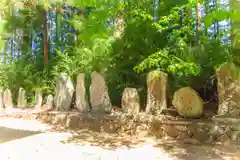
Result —
[[215, 117], [211, 119], [177, 119], [167, 116], [139, 114], [81, 114], [78, 112], [5, 113], [0, 117], [37, 119], [66, 129], [89, 129], [96, 132], [156, 136], [176, 140], [194, 139], [198, 142], [240, 142], [240, 119]]

